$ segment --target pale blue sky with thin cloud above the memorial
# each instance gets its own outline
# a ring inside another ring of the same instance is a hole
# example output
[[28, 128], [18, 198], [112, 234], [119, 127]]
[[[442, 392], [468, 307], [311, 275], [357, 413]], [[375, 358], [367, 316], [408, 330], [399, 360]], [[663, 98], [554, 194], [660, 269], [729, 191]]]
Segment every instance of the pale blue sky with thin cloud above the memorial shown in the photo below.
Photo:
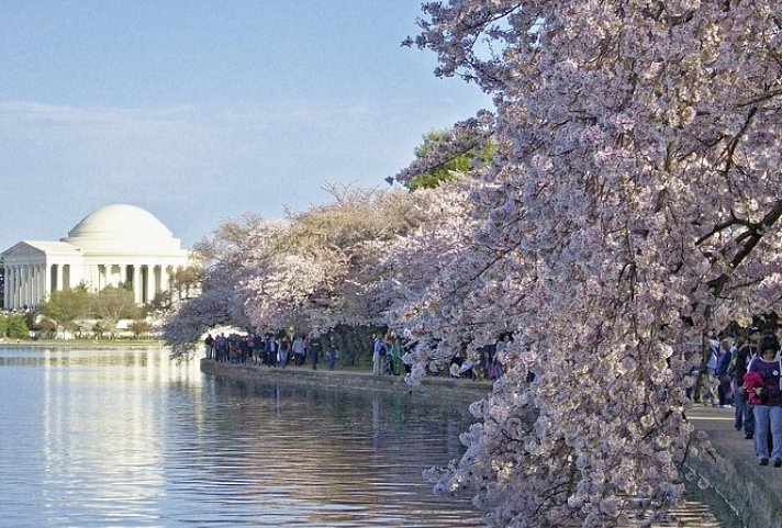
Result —
[[383, 187], [490, 100], [401, 47], [421, 0], [4, 1], [0, 250], [109, 203], [189, 247], [245, 211]]

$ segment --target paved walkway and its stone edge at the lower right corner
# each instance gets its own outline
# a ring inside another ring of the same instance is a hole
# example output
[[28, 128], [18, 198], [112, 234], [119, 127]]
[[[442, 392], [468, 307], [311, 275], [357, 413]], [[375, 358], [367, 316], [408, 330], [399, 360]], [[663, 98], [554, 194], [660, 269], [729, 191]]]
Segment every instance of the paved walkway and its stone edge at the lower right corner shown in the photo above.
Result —
[[747, 528], [782, 527], [782, 468], [761, 467], [753, 440], [734, 429], [734, 409], [695, 407], [688, 418], [708, 432], [723, 460], [701, 462], [697, 470], [712, 483]]

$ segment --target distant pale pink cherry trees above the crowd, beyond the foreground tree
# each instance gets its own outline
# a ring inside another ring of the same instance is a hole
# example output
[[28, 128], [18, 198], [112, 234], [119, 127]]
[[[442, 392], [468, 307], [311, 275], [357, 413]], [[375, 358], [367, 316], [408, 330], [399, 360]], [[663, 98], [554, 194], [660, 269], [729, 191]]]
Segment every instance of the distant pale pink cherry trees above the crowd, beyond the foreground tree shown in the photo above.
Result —
[[401, 299], [388, 288], [389, 248], [442, 216], [445, 194], [327, 190], [329, 203], [289, 213], [284, 222], [253, 215], [230, 221], [199, 245], [202, 292], [183, 302], [164, 329], [175, 356], [196, 350], [200, 336], [220, 325], [326, 332], [387, 324], [392, 300]]

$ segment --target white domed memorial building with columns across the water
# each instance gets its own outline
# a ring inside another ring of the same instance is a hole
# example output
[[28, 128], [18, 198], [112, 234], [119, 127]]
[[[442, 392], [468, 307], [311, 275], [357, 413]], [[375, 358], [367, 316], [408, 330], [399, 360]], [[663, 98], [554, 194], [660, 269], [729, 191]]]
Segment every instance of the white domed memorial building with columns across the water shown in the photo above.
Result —
[[90, 291], [131, 283], [136, 303], [146, 304], [189, 265], [179, 238], [148, 211], [127, 204], [88, 214], [59, 241], [22, 240], [0, 257], [5, 310], [35, 306], [81, 282]]

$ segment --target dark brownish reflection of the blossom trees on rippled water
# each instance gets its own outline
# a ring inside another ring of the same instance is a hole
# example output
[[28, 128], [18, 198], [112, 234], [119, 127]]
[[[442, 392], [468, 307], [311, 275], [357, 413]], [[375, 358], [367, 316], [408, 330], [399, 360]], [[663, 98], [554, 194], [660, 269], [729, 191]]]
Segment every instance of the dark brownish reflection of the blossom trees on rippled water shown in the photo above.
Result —
[[250, 452], [236, 479], [227, 435], [219, 434], [213, 480], [254, 501], [269, 517], [260, 526], [481, 526], [467, 504], [433, 497], [421, 481], [433, 460], [457, 454], [444, 438], [448, 422], [466, 424], [457, 409], [223, 379], [211, 387], [223, 403], [215, 430], [238, 434]]

